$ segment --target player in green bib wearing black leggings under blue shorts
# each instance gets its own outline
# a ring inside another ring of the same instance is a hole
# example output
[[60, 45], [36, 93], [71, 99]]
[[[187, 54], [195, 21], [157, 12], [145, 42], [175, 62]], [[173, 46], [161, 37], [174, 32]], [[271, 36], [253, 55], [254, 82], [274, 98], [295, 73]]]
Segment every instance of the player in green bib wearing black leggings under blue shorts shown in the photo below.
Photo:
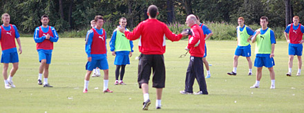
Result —
[[[120, 27], [129, 31], [126, 28], [126, 18], [120, 18]], [[124, 69], [126, 68], [126, 64], [130, 64], [129, 55], [130, 57], [132, 56], [133, 41], [129, 41], [122, 32], [115, 29], [110, 41], [110, 48], [112, 55], [115, 56], [114, 65], [116, 65], [114, 85], [126, 85], [122, 79], [124, 78]], [[120, 81], [118, 81], [119, 76]]]

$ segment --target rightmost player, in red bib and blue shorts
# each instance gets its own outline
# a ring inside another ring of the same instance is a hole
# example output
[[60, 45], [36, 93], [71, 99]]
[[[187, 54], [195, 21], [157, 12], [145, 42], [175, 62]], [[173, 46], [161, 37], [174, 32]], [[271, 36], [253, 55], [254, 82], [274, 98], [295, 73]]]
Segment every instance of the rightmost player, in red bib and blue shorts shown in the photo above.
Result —
[[284, 36], [286, 38], [288, 45], [288, 55], [289, 55], [289, 61], [288, 61], [288, 72], [287, 76], [292, 76], [292, 63], [294, 62], [294, 55], [298, 56], [298, 72], [296, 73], [296, 76], [301, 75], [301, 68], [302, 68], [302, 52], [303, 52], [303, 32], [304, 32], [304, 26], [301, 25], [301, 23], [298, 23], [300, 21], [300, 18], [298, 16], [294, 16], [292, 18], [292, 21], [294, 23], [291, 23], [287, 26], [284, 32]]

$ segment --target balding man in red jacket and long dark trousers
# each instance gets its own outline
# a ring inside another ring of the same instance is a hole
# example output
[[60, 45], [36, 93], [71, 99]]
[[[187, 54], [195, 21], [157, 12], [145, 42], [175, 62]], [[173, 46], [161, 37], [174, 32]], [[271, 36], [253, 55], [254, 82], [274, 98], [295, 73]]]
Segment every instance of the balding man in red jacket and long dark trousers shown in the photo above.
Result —
[[192, 34], [189, 35], [189, 43], [186, 50], [189, 50], [190, 62], [187, 69], [185, 88], [181, 94], [193, 94], [194, 79], [197, 79], [200, 91], [194, 94], [208, 94], [207, 85], [202, 65], [202, 57], [205, 53], [205, 35], [199, 25], [196, 24], [196, 16], [190, 14], [186, 23], [191, 27]]

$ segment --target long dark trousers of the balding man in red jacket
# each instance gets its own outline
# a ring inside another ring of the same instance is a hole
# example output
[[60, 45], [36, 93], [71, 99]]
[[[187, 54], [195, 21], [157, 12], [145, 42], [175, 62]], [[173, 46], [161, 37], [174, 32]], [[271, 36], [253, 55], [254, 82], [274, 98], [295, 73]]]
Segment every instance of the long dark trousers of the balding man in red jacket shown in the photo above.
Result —
[[198, 81], [202, 94], [208, 94], [202, 57], [190, 56], [184, 91], [193, 93], [194, 79]]

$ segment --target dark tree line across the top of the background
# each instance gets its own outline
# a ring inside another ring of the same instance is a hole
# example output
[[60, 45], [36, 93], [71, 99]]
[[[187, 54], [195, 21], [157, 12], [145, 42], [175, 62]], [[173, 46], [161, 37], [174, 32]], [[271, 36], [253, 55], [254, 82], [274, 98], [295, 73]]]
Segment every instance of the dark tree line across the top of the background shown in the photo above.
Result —
[[292, 17], [304, 17], [303, 0], [1, 0], [0, 13], [10, 14], [10, 23], [22, 33], [32, 33], [41, 25], [40, 17], [48, 14], [50, 25], [58, 32], [87, 29], [95, 15], [105, 24], [118, 25], [126, 17], [128, 28], [148, 18], [147, 8], [159, 8], [158, 19], [164, 23], [184, 23], [188, 14], [196, 14], [201, 21], [225, 22], [237, 25], [238, 17], [245, 24], [259, 24], [262, 16], [269, 18], [269, 27], [285, 27]]

